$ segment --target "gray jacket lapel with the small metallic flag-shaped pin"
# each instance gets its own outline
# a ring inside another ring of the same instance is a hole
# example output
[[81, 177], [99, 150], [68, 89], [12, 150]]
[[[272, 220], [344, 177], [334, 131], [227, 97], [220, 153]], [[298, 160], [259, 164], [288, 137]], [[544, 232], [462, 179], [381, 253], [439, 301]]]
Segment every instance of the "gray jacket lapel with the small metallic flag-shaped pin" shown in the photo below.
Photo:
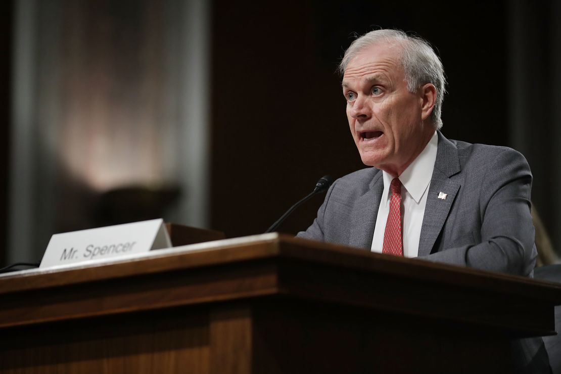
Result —
[[[425, 215], [419, 238], [419, 257], [427, 256], [433, 249], [436, 238], [448, 218], [450, 208], [461, 184], [450, 179], [460, 172], [458, 150], [440, 131], [438, 132], [438, 151], [434, 163], [433, 177], [430, 181], [429, 195], [426, 198]], [[439, 198], [440, 192], [445, 198]]]

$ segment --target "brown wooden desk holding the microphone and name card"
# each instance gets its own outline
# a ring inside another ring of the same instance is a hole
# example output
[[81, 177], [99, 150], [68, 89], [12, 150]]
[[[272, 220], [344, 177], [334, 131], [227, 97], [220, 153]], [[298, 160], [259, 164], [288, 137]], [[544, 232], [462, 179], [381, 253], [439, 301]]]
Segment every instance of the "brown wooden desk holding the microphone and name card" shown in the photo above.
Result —
[[1, 373], [509, 373], [561, 287], [263, 234], [0, 276]]

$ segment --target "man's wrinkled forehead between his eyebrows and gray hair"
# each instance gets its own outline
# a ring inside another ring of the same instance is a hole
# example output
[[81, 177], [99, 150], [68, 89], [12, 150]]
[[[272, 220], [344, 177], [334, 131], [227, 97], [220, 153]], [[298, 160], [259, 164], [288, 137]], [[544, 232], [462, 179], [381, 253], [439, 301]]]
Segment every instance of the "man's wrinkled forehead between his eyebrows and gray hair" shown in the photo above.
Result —
[[347, 64], [343, 82], [372, 75], [404, 79], [403, 69], [399, 64], [402, 51], [401, 45], [388, 42], [379, 42], [362, 49]]

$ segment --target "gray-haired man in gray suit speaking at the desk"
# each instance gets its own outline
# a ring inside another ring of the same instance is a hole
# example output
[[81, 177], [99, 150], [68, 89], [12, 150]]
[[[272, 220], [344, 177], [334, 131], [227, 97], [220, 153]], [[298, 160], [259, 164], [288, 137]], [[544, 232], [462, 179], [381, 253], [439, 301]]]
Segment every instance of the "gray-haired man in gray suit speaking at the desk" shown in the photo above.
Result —
[[[442, 135], [444, 70], [430, 45], [371, 31], [347, 49], [340, 71], [351, 134], [373, 168], [335, 181], [298, 236], [531, 276], [530, 168], [507, 147]], [[540, 338], [513, 349], [521, 372], [549, 372]]]

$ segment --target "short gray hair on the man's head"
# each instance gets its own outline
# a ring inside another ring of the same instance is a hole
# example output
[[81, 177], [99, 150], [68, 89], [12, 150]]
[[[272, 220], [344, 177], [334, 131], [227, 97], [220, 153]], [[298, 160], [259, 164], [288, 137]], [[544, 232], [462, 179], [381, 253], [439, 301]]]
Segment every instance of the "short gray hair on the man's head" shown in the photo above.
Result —
[[442, 101], [446, 79], [444, 77], [444, 68], [440, 58], [436, 56], [429, 42], [417, 36], [407, 35], [401, 30], [382, 29], [370, 31], [353, 41], [349, 48], [345, 51], [341, 64], [339, 64], [339, 72], [344, 74], [348, 63], [355, 58], [363, 49], [371, 47], [380, 41], [396, 42], [401, 45], [403, 52], [399, 57], [399, 63], [405, 73], [407, 89], [411, 93], [415, 93], [417, 89], [427, 83], [431, 83], [436, 87], [436, 102], [434, 103], [433, 119], [436, 130], [442, 127]]

